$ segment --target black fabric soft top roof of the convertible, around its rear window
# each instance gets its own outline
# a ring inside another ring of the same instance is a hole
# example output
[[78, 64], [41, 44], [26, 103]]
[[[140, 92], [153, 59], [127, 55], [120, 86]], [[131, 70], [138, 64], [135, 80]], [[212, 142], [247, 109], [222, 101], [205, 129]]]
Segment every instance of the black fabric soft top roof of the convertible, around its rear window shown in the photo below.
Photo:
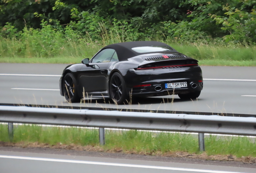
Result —
[[[116, 53], [118, 55], [118, 60], [124, 61], [134, 56], [147, 54], [147, 53], [138, 53], [132, 50], [132, 48], [134, 47], [142, 47], [142, 46], [169, 46], [169, 45], [162, 42], [157, 42], [157, 41], [121, 42], [121, 43], [110, 44], [108, 46], [105, 46], [102, 48], [102, 50], [106, 48], [112, 48], [116, 50]], [[176, 52], [175, 49], [173, 49], [173, 51]], [[153, 53], [153, 52], [150, 52], [150, 53]]]

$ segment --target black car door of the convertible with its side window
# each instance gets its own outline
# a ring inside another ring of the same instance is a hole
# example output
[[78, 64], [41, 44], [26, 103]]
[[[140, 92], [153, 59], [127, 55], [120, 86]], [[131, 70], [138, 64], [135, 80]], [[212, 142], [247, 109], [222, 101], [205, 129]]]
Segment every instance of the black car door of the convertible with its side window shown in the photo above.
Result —
[[107, 70], [114, 52], [114, 49], [103, 49], [90, 60], [89, 65], [82, 66], [78, 87], [80, 91], [85, 91], [85, 96], [107, 95]]

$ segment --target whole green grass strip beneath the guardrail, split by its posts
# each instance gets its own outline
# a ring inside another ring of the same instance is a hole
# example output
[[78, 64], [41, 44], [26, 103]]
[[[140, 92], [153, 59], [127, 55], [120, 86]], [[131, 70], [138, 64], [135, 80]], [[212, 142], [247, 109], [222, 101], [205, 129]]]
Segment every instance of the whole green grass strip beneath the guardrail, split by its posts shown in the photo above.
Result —
[[[7, 125], [0, 125], [0, 141], [8, 142]], [[81, 129], [76, 127], [41, 127], [37, 125], [14, 126], [14, 143], [43, 143], [49, 145], [81, 145], [99, 146], [97, 129]], [[168, 152], [184, 151], [200, 153], [198, 139], [188, 134], [153, 133], [130, 131], [111, 131], [105, 134], [105, 151], [118, 149], [130, 153], [154, 155]], [[256, 144], [247, 137], [205, 138], [205, 149], [208, 155], [235, 155], [237, 157], [256, 157]]]

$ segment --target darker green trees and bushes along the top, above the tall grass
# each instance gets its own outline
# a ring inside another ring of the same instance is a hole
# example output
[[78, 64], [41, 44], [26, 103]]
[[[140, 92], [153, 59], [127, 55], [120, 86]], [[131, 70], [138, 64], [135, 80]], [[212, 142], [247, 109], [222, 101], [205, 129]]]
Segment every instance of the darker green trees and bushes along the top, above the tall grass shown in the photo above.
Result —
[[0, 27], [6, 36], [10, 32], [4, 29], [13, 26], [15, 32], [43, 29], [44, 20], [60, 32], [68, 26], [74, 34], [105, 43], [111, 34], [119, 41], [223, 38], [254, 44], [255, 9], [255, 0], [0, 0]]

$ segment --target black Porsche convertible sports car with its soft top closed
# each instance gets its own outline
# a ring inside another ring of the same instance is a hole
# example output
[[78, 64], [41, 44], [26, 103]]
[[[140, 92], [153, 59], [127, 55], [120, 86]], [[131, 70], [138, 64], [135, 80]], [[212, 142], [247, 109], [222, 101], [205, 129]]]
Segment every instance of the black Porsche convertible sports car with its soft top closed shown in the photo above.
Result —
[[202, 88], [198, 60], [156, 41], [105, 46], [91, 60], [67, 66], [60, 78], [60, 94], [70, 102], [89, 96], [122, 104], [130, 94], [196, 99]]

